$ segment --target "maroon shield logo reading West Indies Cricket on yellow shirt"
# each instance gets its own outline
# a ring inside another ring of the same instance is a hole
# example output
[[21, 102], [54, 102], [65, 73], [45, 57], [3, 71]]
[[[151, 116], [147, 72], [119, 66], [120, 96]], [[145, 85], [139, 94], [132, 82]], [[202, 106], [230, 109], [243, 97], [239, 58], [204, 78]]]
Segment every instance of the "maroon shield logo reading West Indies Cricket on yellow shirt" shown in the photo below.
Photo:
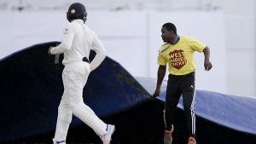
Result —
[[179, 70], [186, 65], [187, 60], [185, 59], [184, 51], [182, 49], [180, 50], [175, 49], [174, 51], [169, 53], [169, 55], [170, 55], [170, 62], [174, 68]]

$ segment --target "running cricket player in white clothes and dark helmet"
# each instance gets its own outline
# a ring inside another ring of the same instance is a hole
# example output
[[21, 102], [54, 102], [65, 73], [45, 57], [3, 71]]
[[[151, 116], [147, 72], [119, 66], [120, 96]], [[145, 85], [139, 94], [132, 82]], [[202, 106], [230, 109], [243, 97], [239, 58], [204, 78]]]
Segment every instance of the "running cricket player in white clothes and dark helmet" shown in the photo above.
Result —
[[[58, 107], [58, 118], [54, 143], [66, 143], [67, 130], [72, 116], [89, 125], [103, 141], [108, 144], [114, 131], [114, 125], [105, 124], [83, 101], [83, 89], [87, 78], [106, 57], [102, 42], [88, 26], [84, 25], [87, 17], [82, 3], [73, 3], [67, 11], [67, 27], [63, 40], [56, 47], [49, 47], [49, 55], [64, 54], [65, 66], [62, 72], [64, 93]], [[90, 48], [95, 49], [96, 56], [89, 62]]]

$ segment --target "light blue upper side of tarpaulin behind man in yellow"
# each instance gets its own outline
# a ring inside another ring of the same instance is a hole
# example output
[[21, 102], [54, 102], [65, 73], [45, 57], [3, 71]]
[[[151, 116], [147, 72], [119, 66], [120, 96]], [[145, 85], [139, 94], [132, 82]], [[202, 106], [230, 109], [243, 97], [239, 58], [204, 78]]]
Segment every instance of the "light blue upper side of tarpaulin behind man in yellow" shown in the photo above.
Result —
[[[153, 94], [155, 78], [137, 78], [140, 84]], [[164, 81], [158, 97], [166, 101], [166, 84]], [[178, 103], [183, 108], [182, 97]], [[234, 130], [256, 135], [256, 98], [238, 95], [227, 95], [202, 89], [196, 90], [195, 113], [214, 123], [224, 125]]]

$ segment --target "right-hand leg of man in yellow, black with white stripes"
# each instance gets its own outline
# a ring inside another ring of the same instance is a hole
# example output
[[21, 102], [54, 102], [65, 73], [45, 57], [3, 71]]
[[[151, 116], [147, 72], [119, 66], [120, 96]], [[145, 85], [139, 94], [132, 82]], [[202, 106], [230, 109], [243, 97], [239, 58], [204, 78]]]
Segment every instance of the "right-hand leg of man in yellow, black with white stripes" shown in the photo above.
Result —
[[189, 136], [195, 137], [195, 72], [189, 73], [182, 85], [183, 107]]

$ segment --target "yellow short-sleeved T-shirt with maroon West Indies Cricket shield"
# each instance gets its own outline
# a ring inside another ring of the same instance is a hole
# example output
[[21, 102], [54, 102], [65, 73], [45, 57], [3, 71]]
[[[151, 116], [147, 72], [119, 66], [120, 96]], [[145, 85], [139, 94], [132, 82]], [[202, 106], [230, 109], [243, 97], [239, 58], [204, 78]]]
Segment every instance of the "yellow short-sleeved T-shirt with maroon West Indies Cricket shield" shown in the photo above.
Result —
[[165, 43], [160, 47], [158, 64], [166, 66], [168, 63], [172, 75], [195, 72], [194, 52], [202, 52], [205, 48], [206, 45], [194, 37], [180, 37], [176, 44]]

